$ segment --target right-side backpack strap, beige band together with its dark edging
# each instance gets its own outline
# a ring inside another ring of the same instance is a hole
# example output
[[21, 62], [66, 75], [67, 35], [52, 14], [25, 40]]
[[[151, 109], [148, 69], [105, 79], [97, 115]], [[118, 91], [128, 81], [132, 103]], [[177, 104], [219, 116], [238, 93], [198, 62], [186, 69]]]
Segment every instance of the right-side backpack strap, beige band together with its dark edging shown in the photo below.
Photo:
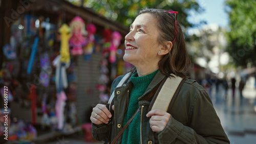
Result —
[[[174, 103], [175, 98], [177, 97], [180, 88], [182, 87], [184, 81], [186, 79], [183, 79], [181, 77], [178, 77], [174, 74], [171, 74], [172, 78], [165, 78], [165, 81], [163, 81], [156, 92], [151, 105], [148, 111], [153, 109], [160, 109], [163, 111], [167, 111], [170, 106]], [[173, 99], [173, 101], [172, 101]]]

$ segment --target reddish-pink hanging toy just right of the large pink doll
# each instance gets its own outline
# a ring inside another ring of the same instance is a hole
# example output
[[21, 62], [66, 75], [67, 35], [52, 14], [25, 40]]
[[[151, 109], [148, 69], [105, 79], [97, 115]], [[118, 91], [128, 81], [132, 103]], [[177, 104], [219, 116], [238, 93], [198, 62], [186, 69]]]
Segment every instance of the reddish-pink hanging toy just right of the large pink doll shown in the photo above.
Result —
[[84, 60], [89, 61], [91, 59], [91, 55], [93, 53], [94, 47], [94, 33], [96, 32], [96, 27], [90, 23], [86, 28], [88, 35], [87, 35], [87, 44], [84, 47]]

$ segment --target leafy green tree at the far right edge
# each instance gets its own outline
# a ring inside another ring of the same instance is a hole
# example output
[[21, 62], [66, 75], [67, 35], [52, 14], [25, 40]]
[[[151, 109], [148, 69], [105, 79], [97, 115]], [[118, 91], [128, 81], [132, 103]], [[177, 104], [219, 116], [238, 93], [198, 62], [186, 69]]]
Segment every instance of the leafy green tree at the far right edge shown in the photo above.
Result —
[[237, 66], [256, 65], [256, 1], [226, 0], [227, 52]]

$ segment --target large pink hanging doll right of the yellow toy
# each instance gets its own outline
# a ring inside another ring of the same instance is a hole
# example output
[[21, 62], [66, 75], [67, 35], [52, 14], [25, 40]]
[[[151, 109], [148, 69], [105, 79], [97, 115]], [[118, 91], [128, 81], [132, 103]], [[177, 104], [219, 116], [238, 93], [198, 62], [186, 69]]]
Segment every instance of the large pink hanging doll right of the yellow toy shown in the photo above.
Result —
[[82, 55], [82, 46], [86, 44], [86, 39], [83, 35], [86, 35], [85, 24], [81, 17], [76, 16], [70, 22], [70, 29], [72, 36], [69, 40], [70, 46], [72, 46], [71, 54], [73, 56]]

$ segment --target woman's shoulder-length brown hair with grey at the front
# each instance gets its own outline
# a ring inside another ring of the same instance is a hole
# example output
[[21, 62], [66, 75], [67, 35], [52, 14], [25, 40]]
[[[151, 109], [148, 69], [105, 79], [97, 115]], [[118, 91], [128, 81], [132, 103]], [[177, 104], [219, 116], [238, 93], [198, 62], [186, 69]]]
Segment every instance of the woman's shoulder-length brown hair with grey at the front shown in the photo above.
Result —
[[[158, 28], [159, 37], [158, 42], [166, 47], [166, 41], [173, 41], [175, 38], [175, 14], [170, 14], [160, 9], [142, 9], [140, 14], [149, 13], [152, 14], [156, 20], [156, 26]], [[182, 29], [177, 22], [177, 36], [173, 42], [173, 47], [168, 54], [164, 55], [159, 61], [158, 66], [162, 74], [170, 77], [173, 73], [179, 77], [186, 77], [185, 68], [187, 65], [187, 51], [185, 41], [182, 33]]]

